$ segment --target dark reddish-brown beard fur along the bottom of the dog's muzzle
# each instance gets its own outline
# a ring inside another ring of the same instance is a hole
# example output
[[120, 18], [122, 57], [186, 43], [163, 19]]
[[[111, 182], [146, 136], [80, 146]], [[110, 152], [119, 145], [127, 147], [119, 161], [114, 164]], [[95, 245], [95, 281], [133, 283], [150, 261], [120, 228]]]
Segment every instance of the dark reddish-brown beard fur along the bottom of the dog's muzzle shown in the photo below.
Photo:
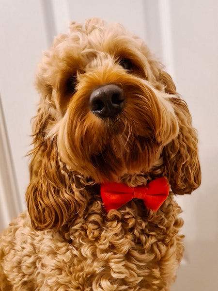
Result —
[[77, 153], [72, 151], [69, 155], [65, 146], [59, 152], [69, 170], [97, 183], [103, 183], [119, 182], [126, 174], [149, 172], [159, 159], [162, 146], [142, 136], [130, 139], [123, 145], [122, 136], [117, 135], [111, 137], [110, 142], [97, 152], [90, 152], [88, 148], [83, 150], [83, 157], [78, 162]]

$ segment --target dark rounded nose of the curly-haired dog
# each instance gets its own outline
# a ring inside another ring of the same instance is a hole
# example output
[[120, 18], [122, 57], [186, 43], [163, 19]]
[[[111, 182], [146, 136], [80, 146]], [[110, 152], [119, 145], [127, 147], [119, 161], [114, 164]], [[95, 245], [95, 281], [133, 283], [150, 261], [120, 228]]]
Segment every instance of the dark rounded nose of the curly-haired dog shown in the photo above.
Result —
[[114, 117], [124, 108], [124, 91], [115, 84], [106, 84], [95, 89], [90, 96], [90, 109], [99, 117]]

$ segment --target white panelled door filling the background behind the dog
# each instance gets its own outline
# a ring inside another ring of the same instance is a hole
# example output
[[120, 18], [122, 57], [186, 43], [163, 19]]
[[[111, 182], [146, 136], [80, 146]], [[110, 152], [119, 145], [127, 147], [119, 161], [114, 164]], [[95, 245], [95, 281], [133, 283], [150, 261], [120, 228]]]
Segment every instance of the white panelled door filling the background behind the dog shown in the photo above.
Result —
[[70, 20], [98, 16], [120, 22], [166, 65], [199, 131], [202, 186], [177, 198], [186, 252], [172, 291], [218, 290], [217, 15], [217, 0], [0, 0], [0, 230], [26, 208], [25, 154], [41, 51], [54, 34], [67, 31]]

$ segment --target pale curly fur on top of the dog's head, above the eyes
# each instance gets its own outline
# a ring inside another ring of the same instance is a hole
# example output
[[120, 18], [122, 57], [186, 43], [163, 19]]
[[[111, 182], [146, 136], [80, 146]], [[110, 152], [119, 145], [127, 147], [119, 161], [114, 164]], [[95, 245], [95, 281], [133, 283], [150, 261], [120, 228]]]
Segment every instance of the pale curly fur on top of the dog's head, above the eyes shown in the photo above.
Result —
[[47, 94], [49, 86], [56, 87], [64, 78], [99, 68], [105, 61], [122, 58], [132, 60], [148, 81], [155, 81], [153, 71], [157, 73], [157, 62], [154, 56], [140, 38], [127, 32], [122, 25], [106, 24], [100, 19], [88, 20], [84, 28], [73, 23], [69, 34], [56, 37], [53, 46], [44, 53], [38, 66], [37, 89]]

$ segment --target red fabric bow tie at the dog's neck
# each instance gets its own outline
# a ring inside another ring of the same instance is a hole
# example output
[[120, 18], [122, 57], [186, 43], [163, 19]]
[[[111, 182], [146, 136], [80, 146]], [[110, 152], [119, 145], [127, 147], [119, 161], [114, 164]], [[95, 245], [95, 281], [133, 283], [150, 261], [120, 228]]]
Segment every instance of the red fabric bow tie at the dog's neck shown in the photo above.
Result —
[[101, 198], [107, 212], [120, 208], [133, 198], [142, 199], [147, 208], [156, 211], [167, 199], [169, 191], [170, 185], [166, 178], [157, 178], [146, 186], [135, 188], [113, 182], [101, 185]]

